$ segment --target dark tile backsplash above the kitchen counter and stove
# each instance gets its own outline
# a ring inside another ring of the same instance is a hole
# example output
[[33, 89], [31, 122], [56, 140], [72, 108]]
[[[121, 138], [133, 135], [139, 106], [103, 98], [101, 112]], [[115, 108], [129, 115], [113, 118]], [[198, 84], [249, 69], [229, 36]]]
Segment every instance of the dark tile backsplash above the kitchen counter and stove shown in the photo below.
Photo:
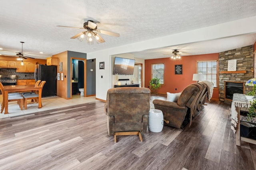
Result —
[[16, 75], [18, 80], [34, 79], [33, 72], [16, 72], [16, 69], [12, 68], [0, 68], [0, 75]]

